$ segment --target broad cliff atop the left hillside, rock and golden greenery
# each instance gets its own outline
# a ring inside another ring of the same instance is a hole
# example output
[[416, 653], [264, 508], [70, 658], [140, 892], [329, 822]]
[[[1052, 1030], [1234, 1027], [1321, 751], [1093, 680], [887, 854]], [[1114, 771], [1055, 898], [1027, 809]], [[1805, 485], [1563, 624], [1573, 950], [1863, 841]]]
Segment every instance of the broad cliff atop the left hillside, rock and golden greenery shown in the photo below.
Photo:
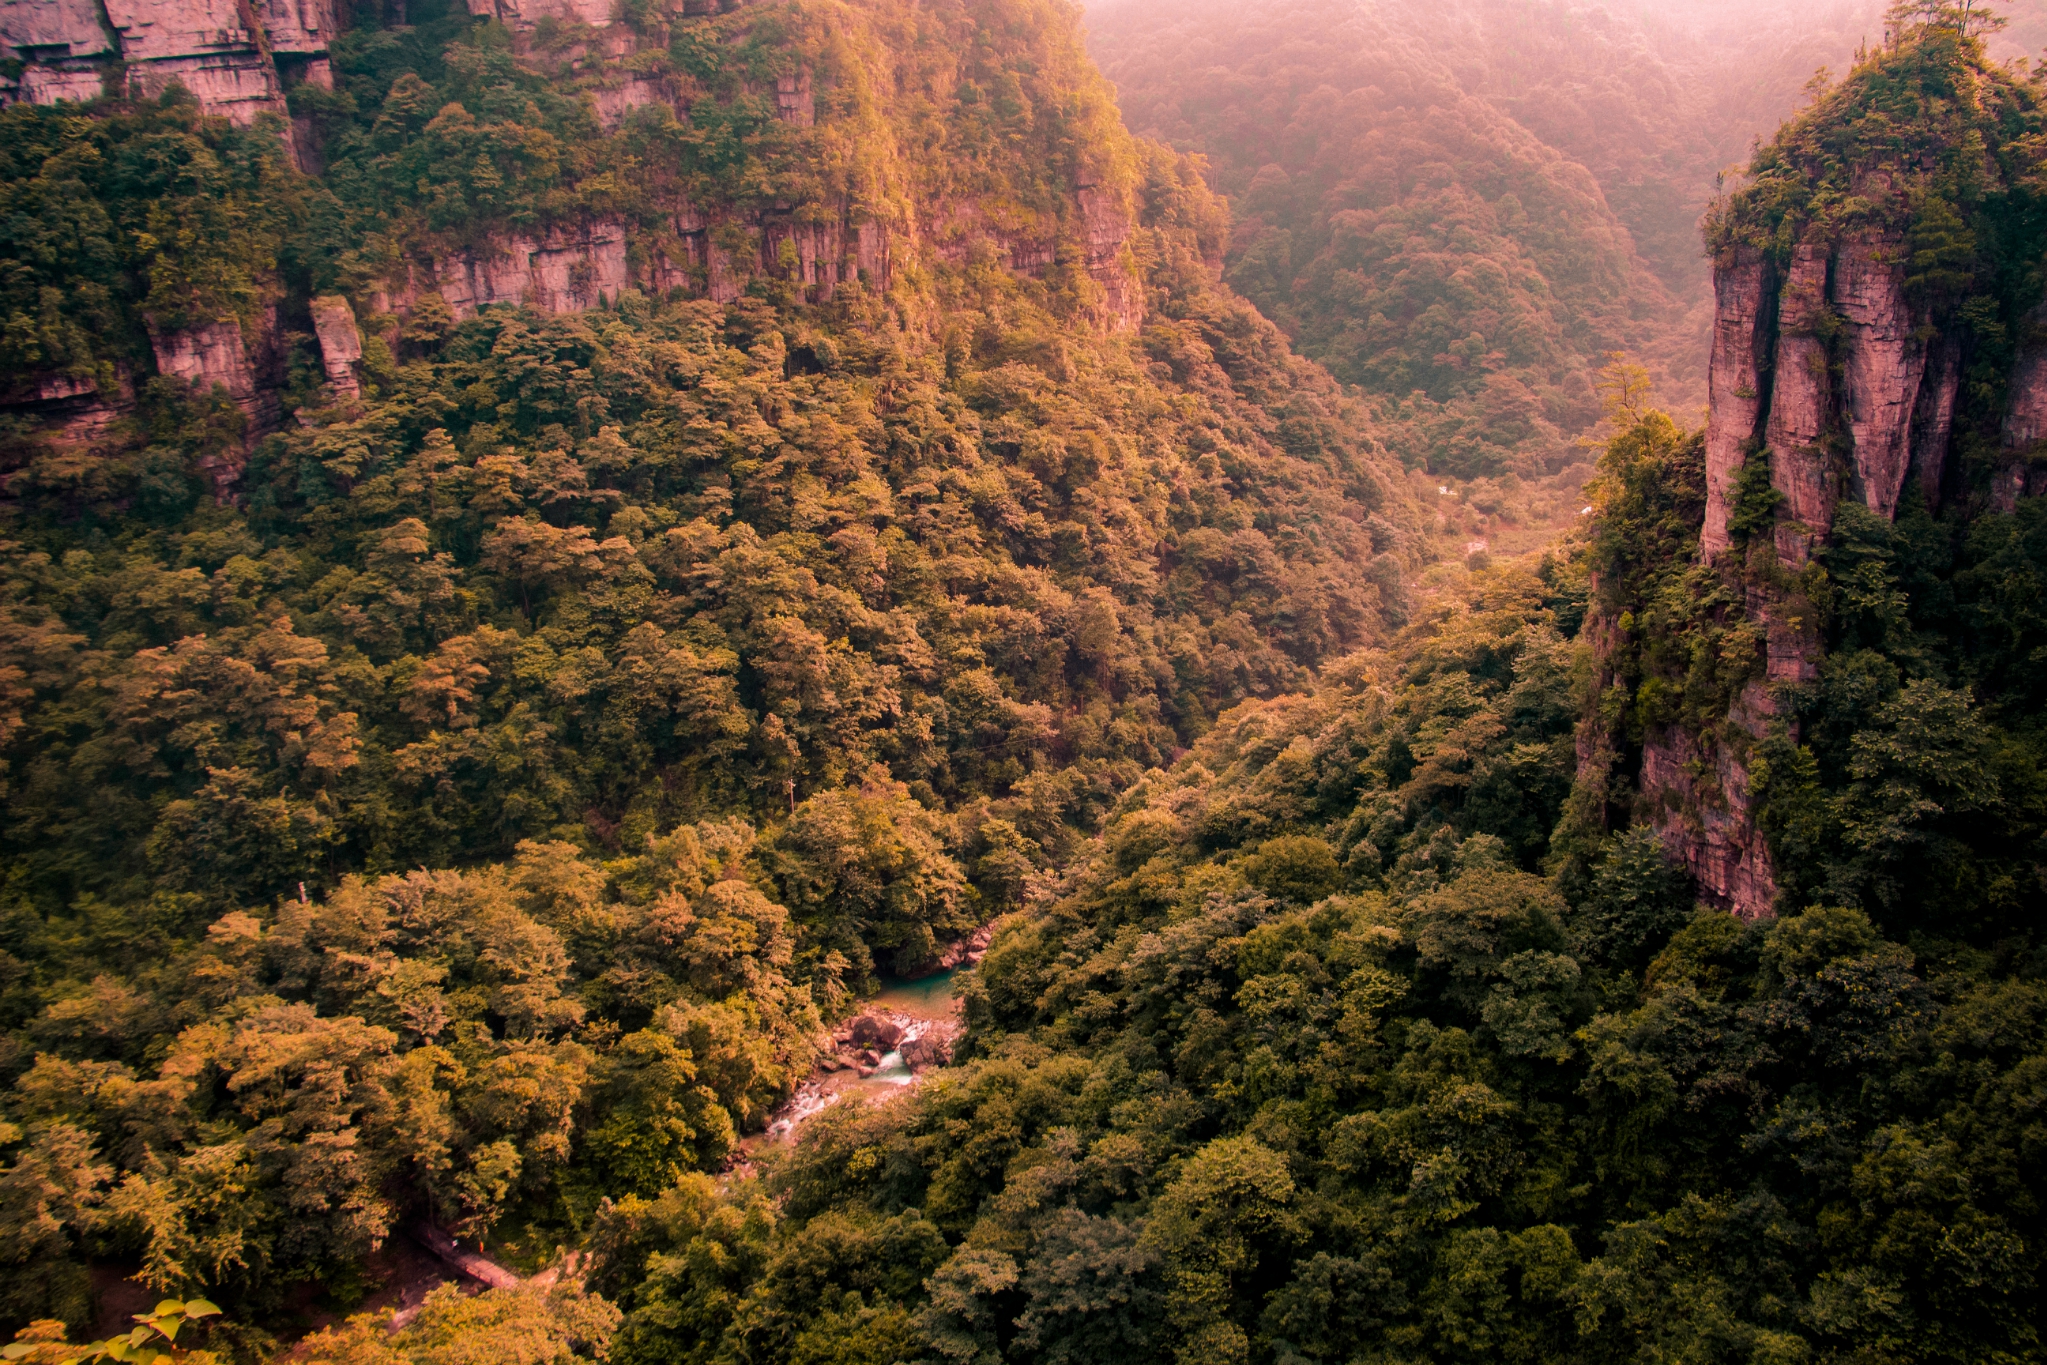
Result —
[[[606, 188], [557, 186], [516, 213], [479, 203], [469, 217], [438, 207], [356, 205], [358, 231], [377, 246], [375, 264], [336, 274], [319, 262], [311, 289], [282, 276], [258, 278], [260, 303], [237, 303], [231, 317], [215, 307], [197, 321], [151, 321], [135, 364], [154, 362], [158, 375], [223, 387], [248, 413], [254, 442], [287, 415], [278, 391], [291, 346], [309, 344], [317, 352], [315, 372], [325, 375], [334, 399], [346, 401], [358, 393], [364, 366], [401, 348], [407, 317], [420, 307], [461, 321], [499, 305], [549, 313], [596, 309], [626, 291], [729, 303], [772, 280], [792, 301], [813, 305], [852, 282], [882, 295], [907, 289], [923, 297], [911, 313], [931, 317], [933, 272], [989, 262], [1030, 278], [1058, 276], [1087, 301], [1087, 313], [1103, 329], [1132, 332], [1142, 321], [1144, 295], [1130, 252], [1136, 229], [1130, 139], [1114, 121], [1105, 86], [1085, 68], [1077, 31], [1071, 51], [1052, 57], [1075, 63], [1062, 76], [1069, 88], [1099, 86], [1099, 98], [1081, 104], [1095, 123], [1073, 123], [1069, 100], [1062, 119], [1071, 127], [1056, 133], [1058, 153], [1003, 170], [991, 170], [995, 158], [981, 156], [976, 174], [960, 174], [952, 158], [931, 156], [933, 123], [942, 127], [942, 119], [929, 100], [972, 100], [989, 111], [993, 96], [966, 72], [970, 39], [929, 43], [919, 29], [938, 23], [929, 14], [845, 4], [794, 25], [770, 25], [764, 29], [770, 37], [759, 37], [753, 16], [764, 6], [739, 0], [655, 6], [655, 20], [630, 23], [614, 0], [465, 4], [479, 29], [495, 27], [491, 51], [510, 51], [522, 80], [545, 82], [557, 106], [581, 104], [561, 131], [520, 137], [534, 137], [549, 158], [571, 164], [575, 158], [553, 151], [563, 137], [604, 147], [612, 164], [592, 180]], [[180, 84], [201, 111], [244, 127], [276, 115], [270, 127], [285, 137], [299, 170], [321, 176], [315, 137], [321, 125], [293, 121], [287, 94], [311, 84], [336, 90], [330, 104], [356, 102], [364, 111], [358, 139], [373, 131], [377, 106], [397, 98], [387, 84], [346, 86], [346, 74], [344, 88], [336, 88], [330, 41], [348, 12], [338, 0], [12, 0], [0, 6], [0, 45], [23, 68], [0, 98], [49, 104], [104, 94], [119, 102]], [[393, 14], [391, 23], [403, 23], [403, 6]], [[436, 23], [454, 25], [459, 35], [461, 14], [459, 4]], [[974, 20], [954, 6], [946, 23], [964, 35]], [[692, 51], [737, 47], [745, 57], [725, 68], [712, 57], [688, 65], [673, 57], [680, 51], [673, 41], [684, 47], [696, 41], [700, 47]], [[1048, 55], [1032, 63], [1046, 65]], [[899, 90], [931, 92], [915, 121], [897, 108]], [[430, 100], [416, 129], [442, 115], [418, 137], [446, 127], [454, 129], [452, 145], [456, 133], [473, 127], [461, 123], [473, 115], [444, 94], [407, 98]], [[700, 135], [700, 125], [714, 131]], [[725, 168], [694, 178], [665, 160], [735, 125], [751, 127], [747, 137], [772, 158], [743, 174]], [[1003, 139], [1021, 143], [1013, 129]], [[499, 145], [465, 143], [434, 164], [436, 174], [438, 168], [469, 174], [477, 158], [491, 174], [489, 158]], [[516, 158], [504, 164], [508, 174], [520, 170]], [[360, 168], [354, 174], [360, 182]], [[639, 182], [620, 184], [622, 174]], [[0, 393], [0, 405], [49, 420], [61, 440], [92, 442], [127, 401], [127, 391], [74, 385], [59, 395], [53, 385], [61, 387], [55, 375], [31, 377]], [[215, 471], [221, 495], [233, 495], [235, 475], [231, 460]]]

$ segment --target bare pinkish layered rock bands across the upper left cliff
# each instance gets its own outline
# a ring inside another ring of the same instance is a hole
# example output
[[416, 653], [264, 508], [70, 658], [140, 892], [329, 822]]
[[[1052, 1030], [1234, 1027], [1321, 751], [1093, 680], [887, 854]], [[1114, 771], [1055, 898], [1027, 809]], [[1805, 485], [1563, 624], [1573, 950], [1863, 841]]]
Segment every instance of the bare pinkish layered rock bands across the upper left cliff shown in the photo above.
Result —
[[[514, 47], [573, 82], [600, 127], [665, 104], [688, 119], [676, 78], [626, 61], [641, 41], [620, 23], [614, 0], [467, 0], [471, 14], [510, 31]], [[686, 0], [686, 14], [741, 8], [741, 0]], [[0, 55], [23, 61], [0, 98], [51, 102], [151, 94], [186, 86], [209, 115], [252, 123], [285, 115], [293, 84], [332, 86], [328, 43], [340, 29], [340, 0], [0, 0]], [[545, 39], [545, 41], [542, 41]], [[776, 76], [753, 94], [772, 100], [794, 129], [819, 117], [811, 70]], [[301, 170], [319, 172], [311, 125], [280, 125]], [[1091, 282], [1099, 325], [1136, 329], [1144, 299], [1128, 252], [1130, 207], [1095, 176], [1079, 172], [1060, 215], [1015, 217], [978, 203], [921, 205], [905, 219], [878, 221], [852, 203], [735, 207], [676, 203], [663, 217], [565, 223], [536, 233], [502, 233], [461, 248], [416, 250], [381, 287], [356, 299], [317, 299], [311, 321], [328, 385], [340, 399], [360, 391], [358, 311], [395, 342], [403, 319], [438, 297], [454, 319], [489, 307], [575, 313], [604, 307], [624, 291], [653, 297], [739, 299], [759, 276], [796, 284], [811, 303], [862, 282], [888, 291], [903, 264], [964, 264], [991, 250], [1007, 270], [1044, 278], [1056, 264], [1079, 266]], [[186, 327], [151, 325], [160, 375], [223, 387], [248, 413], [250, 440], [280, 420], [282, 338], [278, 309]], [[61, 395], [57, 389], [70, 385]], [[92, 444], [133, 403], [133, 393], [96, 395], [68, 377], [20, 377], [0, 403], [37, 417], [59, 444]], [[233, 495], [239, 465], [209, 469], [215, 491]]]

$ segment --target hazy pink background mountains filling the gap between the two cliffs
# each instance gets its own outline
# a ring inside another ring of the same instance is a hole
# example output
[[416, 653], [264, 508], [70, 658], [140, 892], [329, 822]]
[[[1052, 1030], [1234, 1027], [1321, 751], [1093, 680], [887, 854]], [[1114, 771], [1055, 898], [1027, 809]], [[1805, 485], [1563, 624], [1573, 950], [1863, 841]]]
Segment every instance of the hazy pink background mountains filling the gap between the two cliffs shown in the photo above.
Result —
[[1699, 215], [1814, 70], [1885, 20], [1859, 2], [1457, 0], [1423, 18], [1095, 0], [1089, 27], [1130, 125], [1210, 160], [1230, 282], [1382, 399], [1404, 460], [1525, 479], [1578, 458], [1611, 350], [1646, 360], [1672, 411], [1703, 407]]

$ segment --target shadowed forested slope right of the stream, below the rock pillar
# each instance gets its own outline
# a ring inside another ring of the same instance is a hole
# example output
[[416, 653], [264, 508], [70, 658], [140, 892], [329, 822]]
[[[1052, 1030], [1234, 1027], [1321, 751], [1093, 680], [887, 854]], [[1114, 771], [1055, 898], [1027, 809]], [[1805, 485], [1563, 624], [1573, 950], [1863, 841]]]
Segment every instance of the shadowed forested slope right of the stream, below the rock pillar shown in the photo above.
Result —
[[[1844, 542], [1844, 677], [1873, 585], [1984, 647], [1873, 702], [1740, 919], [1574, 753], [1629, 700], [1588, 630], [1697, 591], [1701, 434], [1617, 420], [1595, 536], [1439, 571], [1146, 776], [997, 937], [968, 1062], [766, 1189], [616, 1205], [618, 1359], [833, 1359], [802, 1295], [872, 1361], [2039, 1359], [2047, 806], [1990, 641], [2037, 634], [2041, 503], [1936, 579]], [[1885, 860], [1912, 898], [1826, 876]]]

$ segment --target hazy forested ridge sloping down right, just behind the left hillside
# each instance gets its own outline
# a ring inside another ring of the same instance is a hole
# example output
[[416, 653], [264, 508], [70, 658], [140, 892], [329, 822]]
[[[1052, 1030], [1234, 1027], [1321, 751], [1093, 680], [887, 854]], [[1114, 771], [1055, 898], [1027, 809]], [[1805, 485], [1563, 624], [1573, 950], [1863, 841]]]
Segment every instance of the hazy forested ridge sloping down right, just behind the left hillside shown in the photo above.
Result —
[[1460, 80], [1488, 47], [1451, 37], [1455, 10], [1421, 29], [1353, 0], [1128, 4], [1091, 27], [1132, 127], [1208, 156], [1228, 280], [1386, 401], [1404, 460], [1556, 473], [1599, 415], [1605, 352], [1685, 336], [1584, 166]]

